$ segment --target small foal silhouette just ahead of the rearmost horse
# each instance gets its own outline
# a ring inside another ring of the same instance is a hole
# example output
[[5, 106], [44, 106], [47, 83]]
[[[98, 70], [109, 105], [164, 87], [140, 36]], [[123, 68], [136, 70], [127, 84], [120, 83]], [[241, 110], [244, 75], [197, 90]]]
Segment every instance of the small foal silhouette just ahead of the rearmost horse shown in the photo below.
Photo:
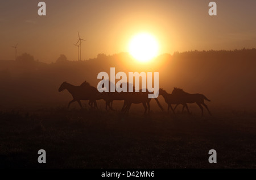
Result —
[[[184, 103], [184, 102], [181, 102], [180, 101], [180, 98], [179, 97], [176, 97], [174, 94], [169, 94], [167, 93], [165, 90], [163, 90], [162, 88], [159, 89], [159, 95], [162, 95], [163, 98], [164, 98], [164, 101], [166, 101], [166, 103], [168, 104], [168, 110], [170, 109], [171, 107], [171, 110], [172, 112], [174, 112], [174, 109], [172, 108], [171, 104], [176, 104], [176, 107], [179, 105], [179, 104], [183, 104], [183, 108], [182, 108], [182, 112], [184, 111], [184, 108], [186, 107], [187, 110], [188, 110], [188, 105], [187, 103]], [[176, 108], [175, 107], [175, 108]], [[188, 110], [188, 113], [189, 113], [189, 110]], [[175, 112], [174, 112], [175, 114]]]

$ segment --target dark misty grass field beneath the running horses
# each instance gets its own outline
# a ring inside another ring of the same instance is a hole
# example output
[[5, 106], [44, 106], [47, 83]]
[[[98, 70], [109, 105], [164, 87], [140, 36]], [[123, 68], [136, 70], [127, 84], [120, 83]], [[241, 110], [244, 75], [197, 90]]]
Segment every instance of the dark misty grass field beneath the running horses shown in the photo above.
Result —
[[[204, 117], [62, 106], [2, 111], [0, 168], [256, 168], [255, 119], [255, 112], [218, 109]], [[46, 164], [38, 163], [39, 149]], [[217, 164], [208, 162], [210, 149]]]

